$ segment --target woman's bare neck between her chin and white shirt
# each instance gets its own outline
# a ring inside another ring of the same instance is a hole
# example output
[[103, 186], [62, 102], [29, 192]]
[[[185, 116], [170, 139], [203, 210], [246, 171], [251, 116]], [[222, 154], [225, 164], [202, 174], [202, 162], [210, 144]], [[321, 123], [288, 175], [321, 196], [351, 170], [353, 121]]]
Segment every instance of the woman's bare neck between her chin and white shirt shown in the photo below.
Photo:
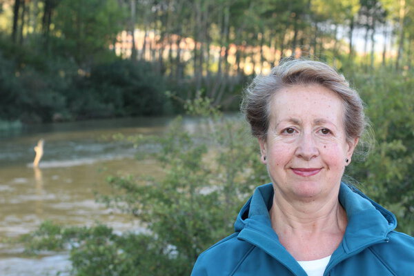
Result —
[[322, 259], [339, 246], [348, 221], [338, 193], [339, 187], [324, 197], [294, 200], [275, 190], [270, 209], [272, 227], [295, 259]]

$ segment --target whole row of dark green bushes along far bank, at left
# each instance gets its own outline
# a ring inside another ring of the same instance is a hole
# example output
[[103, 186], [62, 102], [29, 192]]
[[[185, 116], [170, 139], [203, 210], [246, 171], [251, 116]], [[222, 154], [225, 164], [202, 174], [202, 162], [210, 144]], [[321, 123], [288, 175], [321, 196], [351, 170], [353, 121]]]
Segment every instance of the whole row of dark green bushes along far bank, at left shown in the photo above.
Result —
[[164, 78], [149, 63], [114, 59], [83, 71], [68, 59], [26, 50], [0, 50], [0, 119], [33, 123], [173, 111]]

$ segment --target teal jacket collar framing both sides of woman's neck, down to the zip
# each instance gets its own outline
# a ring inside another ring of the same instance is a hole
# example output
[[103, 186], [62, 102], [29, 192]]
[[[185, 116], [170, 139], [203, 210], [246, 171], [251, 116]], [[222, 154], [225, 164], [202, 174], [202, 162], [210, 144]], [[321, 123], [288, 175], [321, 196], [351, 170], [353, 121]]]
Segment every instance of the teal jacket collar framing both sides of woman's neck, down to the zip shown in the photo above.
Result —
[[[239, 232], [239, 239], [262, 248], [296, 275], [306, 275], [279, 243], [271, 226], [268, 210], [273, 204], [273, 193], [272, 184], [257, 187], [253, 196], [240, 210], [235, 231]], [[356, 254], [371, 244], [385, 241], [388, 233], [397, 226], [397, 220], [391, 212], [347, 184], [341, 183], [339, 202], [346, 210], [348, 226], [342, 244], [333, 253], [331, 262], [340, 262], [346, 256]]]

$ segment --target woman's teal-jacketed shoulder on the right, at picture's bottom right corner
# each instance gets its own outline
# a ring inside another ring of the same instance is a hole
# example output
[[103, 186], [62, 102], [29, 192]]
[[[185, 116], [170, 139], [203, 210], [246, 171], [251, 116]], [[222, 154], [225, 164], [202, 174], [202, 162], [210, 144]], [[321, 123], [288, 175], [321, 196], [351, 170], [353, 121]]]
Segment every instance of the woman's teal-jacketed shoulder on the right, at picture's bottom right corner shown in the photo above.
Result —
[[371, 251], [395, 275], [414, 275], [414, 237], [391, 231], [388, 242], [371, 246]]

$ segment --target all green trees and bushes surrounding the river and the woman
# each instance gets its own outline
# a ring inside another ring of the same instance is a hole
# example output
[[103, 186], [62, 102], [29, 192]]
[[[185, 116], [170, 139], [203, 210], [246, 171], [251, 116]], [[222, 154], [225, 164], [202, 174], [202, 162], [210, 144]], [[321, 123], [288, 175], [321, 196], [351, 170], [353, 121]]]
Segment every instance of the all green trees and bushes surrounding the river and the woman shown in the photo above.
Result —
[[177, 119], [165, 137], [118, 137], [156, 148], [148, 158], [165, 178], [108, 177], [114, 192], [97, 199], [148, 233], [46, 221], [22, 237], [26, 250], [70, 248], [72, 275], [189, 275], [203, 250], [232, 233], [253, 187], [268, 181], [246, 125], [221, 112], [239, 109], [255, 75], [299, 57], [335, 66], [359, 91], [375, 142], [358, 149], [347, 181], [413, 235], [413, 4], [0, 0], [0, 130], [184, 112], [208, 126], [188, 132]]

